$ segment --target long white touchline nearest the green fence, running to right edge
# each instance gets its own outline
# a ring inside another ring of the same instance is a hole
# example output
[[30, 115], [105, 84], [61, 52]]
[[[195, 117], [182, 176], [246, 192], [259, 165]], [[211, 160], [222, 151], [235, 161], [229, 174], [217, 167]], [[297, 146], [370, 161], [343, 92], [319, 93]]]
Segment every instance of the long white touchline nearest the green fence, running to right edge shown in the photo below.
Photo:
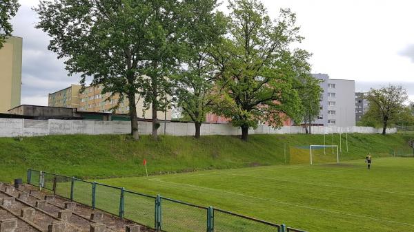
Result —
[[315, 210], [315, 211], [322, 211], [322, 212], [325, 212], [325, 213], [335, 213], [335, 214], [339, 214], [339, 215], [348, 215], [348, 216], [355, 217], [355, 218], [364, 218], [364, 219], [370, 219], [370, 220], [375, 220], [375, 221], [379, 221], [379, 222], [388, 222], [388, 223], [393, 223], [393, 224], [402, 224], [402, 225], [414, 227], [414, 224], [409, 224], [409, 223], [406, 223], [406, 222], [397, 222], [397, 221], [393, 221], [393, 220], [385, 220], [385, 219], [380, 219], [380, 218], [374, 218], [370, 215], [358, 215], [358, 214], [353, 214], [353, 213], [345, 213], [345, 212], [342, 212], [342, 211], [335, 211], [335, 210], [329, 210], [329, 209], [319, 209], [319, 208], [316, 208], [316, 207], [309, 207], [309, 206], [302, 205], [302, 204], [293, 204], [293, 203], [289, 203], [289, 202], [282, 202], [282, 201], [274, 200], [274, 199], [270, 199], [270, 198], [259, 198], [259, 197], [255, 197], [255, 196], [249, 196], [249, 195], [246, 195], [246, 194], [243, 194], [243, 193], [235, 193], [235, 192], [232, 192], [232, 191], [225, 191], [225, 190], [221, 190], [221, 189], [212, 189], [212, 188], [208, 188], [208, 187], [200, 187], [200, 186], [193, 185], [193, 184], [182, 184], [182, 183], [177, 183], [177, 182], [169, 182], [169, 181], [160, 180], [160, 179], [157, 179], [157, 178], [152, 178], [152, 180], [155, 180], [155, 181], [158, 181], [158, 182], [164, 182], [164, 183], [167, 183], [167, 184], [184, 185], [184, 186], [188, 186], [188, 187], [193, 187], [195, 189], [207, 189], [207, 190], [210, 190], [210, 191], [218, 191], [218, 192], [221, 192], [221, 193], [228, 193], [228, 194], [233, 194], [233, 195], [237, 195], [237, 196], [243, 196], [243, 197], [246, 197], [246, 198], [254, 198], [254, 199], [257, 199], [257, 200], [266, 200], [266, 201], [275, 202], [275, 203], [278, 203], [278, 204], [286, 204], [286, 205], [290, 205], [290, 206], [293, 206], [293, 207], [299, 207], [299, 208], [304, 208], [304, 209], [312, 209], [312, 210]]

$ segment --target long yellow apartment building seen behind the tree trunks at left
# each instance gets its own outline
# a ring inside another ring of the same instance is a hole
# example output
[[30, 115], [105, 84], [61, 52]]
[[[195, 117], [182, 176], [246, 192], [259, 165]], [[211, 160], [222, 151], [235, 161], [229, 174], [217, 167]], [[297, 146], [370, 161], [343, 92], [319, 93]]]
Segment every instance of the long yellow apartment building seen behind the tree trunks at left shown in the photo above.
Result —
[[[110, 93], [103, 94], [101, 85], [84, 87], [81, 91], [81, 85], [71, 85], [66, 89], [61, 89], [55, 93], [49, 94], [49, 106], [52, 107], [72, 107], [77, 108], [80, 112], [112, 112], [119, 101], [119, 94], [110, 96]], [[76, 97], [74, 97], [76, 96]], [[137, 96], [139, 99], [139, 96]], [[128, 98], [124, 98], [115, 110], [115, 114], [128, 114], [130, 110]], [[150, 110], [145, 111], [144, 101], [141, 99], [137, 103], [138, 118], [152, 118]], [[158, 112], [157, 118], [164, 120], [165, 113]], [[166, 119], [171, 119], [171, 109], [167, 110]]]

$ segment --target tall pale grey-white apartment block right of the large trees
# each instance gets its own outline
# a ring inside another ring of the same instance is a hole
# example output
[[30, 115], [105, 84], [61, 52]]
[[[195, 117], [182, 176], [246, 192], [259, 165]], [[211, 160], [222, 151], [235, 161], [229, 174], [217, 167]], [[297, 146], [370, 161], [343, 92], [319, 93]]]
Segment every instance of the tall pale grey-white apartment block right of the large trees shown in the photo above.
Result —
[[312, 74], [322, 80], [324, 93], [320, 101], [320, 113], [316, 125], [355, 126], [355, 81], [331, 79], [327, 74]]

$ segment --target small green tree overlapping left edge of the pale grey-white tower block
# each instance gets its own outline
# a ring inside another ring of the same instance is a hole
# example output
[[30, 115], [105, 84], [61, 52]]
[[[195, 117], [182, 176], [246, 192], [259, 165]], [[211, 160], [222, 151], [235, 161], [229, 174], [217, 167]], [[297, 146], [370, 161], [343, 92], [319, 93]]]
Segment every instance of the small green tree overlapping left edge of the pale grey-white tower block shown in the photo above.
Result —
[[312, 122], [319, 116], [320, 99], [323, 89], [320, 81], [311, 75], [299, 78], [299, 98], [302, 104], [302, 118], [305, 124], [306, 134], [312, 134]]

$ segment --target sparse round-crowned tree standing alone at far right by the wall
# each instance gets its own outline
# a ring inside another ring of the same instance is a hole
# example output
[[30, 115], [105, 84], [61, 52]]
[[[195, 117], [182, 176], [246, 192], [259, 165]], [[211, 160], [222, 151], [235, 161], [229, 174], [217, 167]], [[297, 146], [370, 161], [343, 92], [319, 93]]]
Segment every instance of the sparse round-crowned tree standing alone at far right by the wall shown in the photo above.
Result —
[[380, 89], [370, 89], [366, 99], [370, 106], [364, 117], [381, 123], [382, 134], [386, 134], [389, 123], [395, 122], [406, 112], [407, 107], [404, 102], [407, 101], [408, 96], [402, 86], [388, 85]]

